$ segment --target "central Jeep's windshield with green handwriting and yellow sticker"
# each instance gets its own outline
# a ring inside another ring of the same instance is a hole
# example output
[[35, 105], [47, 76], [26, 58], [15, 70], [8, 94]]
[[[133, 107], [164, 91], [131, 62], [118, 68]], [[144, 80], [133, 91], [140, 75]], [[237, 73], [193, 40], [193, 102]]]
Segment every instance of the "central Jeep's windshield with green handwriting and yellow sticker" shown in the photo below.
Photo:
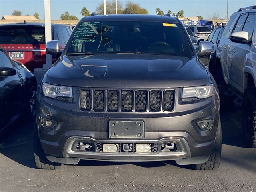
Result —
[[67, 54], [122, 52], [193, 55], [184, 30], [178, 23], [82, 22], [67, 46]]

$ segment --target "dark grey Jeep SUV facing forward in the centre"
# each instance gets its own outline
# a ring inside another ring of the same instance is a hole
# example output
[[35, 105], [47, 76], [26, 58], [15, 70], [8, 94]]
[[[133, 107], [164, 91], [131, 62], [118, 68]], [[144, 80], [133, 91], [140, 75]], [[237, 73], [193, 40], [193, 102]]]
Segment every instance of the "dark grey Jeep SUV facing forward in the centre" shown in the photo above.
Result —
[[[213, 50], [200, 42], [199, 55]], [[46, 44], [59, 53], [59, 42]], [[174, 17], [88, 16], [36, 96], [35, 162], [80, 159], [220, 164], [218, 87]]]

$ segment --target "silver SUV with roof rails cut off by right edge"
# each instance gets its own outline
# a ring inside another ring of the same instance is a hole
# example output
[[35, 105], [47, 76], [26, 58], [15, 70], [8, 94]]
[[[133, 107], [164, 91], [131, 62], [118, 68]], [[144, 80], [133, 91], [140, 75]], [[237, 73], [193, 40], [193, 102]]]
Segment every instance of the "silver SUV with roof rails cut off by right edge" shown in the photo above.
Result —
[[[216, 81], [241, 98], [246, 142], [256, 147], [256, 6], [232, 14], [216, 52]], [[223, 76], [222, 76], [222, 75]]]

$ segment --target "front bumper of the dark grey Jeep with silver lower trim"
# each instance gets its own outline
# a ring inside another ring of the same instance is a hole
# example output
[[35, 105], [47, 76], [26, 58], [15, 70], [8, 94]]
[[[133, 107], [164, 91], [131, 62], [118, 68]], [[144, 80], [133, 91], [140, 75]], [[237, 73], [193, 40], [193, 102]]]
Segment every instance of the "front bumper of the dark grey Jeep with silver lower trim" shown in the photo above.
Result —
[[[157, 117], [130, 116], [123, 114], [118, 120], [143, 120], [145, 136], [142, 139], [110, 139], [108, 122], [117, 119], [116, 114], [90, 114], [71, 112], [51, 106], [41, 95], [37, 95], [37, 128], [42, 148], [48, 160], [65, 164], [77, 164], [80, 159], [103, 161], [161, 161], [176, 160], [178, 164], [197, 164], [208, 160], [214, 147], [219, 114], [215, 99], [204, 107], [189, 112], [159, 115]], [[39, 101], [39, 102], [38, 102]], [[42, 126], [42, 118], [58, 122], [54, 129]], [[213, 119], [210, 130], [200, 130], [196, 122]], [[92, 151], [77, 150], [80, 143], [89, 143]], [[96, 144], [156, 144], [150, 153], [99, 151]], [[176, 150], [162, 152], [161, 145], [174, 143]]]

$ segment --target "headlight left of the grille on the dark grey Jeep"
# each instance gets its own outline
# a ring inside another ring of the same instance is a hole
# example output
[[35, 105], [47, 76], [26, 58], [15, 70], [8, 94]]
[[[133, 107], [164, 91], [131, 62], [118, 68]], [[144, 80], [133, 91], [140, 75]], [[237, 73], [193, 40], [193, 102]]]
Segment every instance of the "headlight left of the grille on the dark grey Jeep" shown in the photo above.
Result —
[[69, 97], [72, 98], [72, 87], [52, 85], [48, 83], [43, 83], [43, 94], [46, 97], [56, 98], [56, 97]]

